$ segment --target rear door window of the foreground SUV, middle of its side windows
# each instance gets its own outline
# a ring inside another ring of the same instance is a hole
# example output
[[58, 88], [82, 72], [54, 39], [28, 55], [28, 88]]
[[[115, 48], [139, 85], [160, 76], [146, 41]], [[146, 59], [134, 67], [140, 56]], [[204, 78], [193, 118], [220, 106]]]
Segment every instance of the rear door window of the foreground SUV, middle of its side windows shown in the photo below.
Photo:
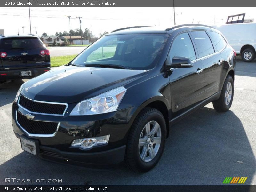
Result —
[[214, 53], [212, 42], [205, 31], [191, 31], [199, 57]]

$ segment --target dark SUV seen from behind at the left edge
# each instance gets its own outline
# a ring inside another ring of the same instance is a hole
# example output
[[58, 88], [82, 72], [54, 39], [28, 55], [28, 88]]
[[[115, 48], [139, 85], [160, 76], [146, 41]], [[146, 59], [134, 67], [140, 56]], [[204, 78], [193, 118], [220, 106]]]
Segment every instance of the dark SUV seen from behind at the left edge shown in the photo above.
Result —
[[38, 37], [0, 35], [0, 81], [35, 77], [50, 68], [50, 52]]

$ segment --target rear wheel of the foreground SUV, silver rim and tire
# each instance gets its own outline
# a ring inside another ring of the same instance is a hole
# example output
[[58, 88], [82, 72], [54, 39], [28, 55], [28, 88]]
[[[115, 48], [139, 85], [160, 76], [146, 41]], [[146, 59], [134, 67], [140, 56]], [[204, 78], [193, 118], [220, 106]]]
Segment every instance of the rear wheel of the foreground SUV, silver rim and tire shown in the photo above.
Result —
[[228, 111], [232, 105], [234, 96], [234, 80], [232, 76], [227, 76], [223, 88], [221, 90], [220, 98], [212, 102], [213, 108], [216, 111]]

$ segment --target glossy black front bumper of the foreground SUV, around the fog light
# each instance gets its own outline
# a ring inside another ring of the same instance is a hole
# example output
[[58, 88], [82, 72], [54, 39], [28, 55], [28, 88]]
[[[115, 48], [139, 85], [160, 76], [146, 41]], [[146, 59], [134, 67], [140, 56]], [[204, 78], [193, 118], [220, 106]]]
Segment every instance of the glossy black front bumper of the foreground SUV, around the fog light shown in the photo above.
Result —
[[[75, 105], [75, 104], [74, 104]], [[69, 104], [67, 111], [74, 106]], [[138, 107], [126, 108], [107, 114], [91, 116], [51, 116], [35, 115], [35, 120], [60, 122], [53, 137], [31, 137], [16, 122], [17, 110], [23, 110], [15, 102], [12, 107], [12, 125], [17, 138], [21, 135], [39, 141], [39, 157], [64, 164], [95, 167], [118, 164], [124, 160], [128, 132], [133, 122], [133, 114]], [[23, 114], [24, 111], [22, 111]], [[70, 131], [75, 130], [75, 131]], [[77, 131], [80, 130], [80, 131]], [[74, 139], [99, 137], [110, 134], [107, 145], [89, 150], [70, 147]]]

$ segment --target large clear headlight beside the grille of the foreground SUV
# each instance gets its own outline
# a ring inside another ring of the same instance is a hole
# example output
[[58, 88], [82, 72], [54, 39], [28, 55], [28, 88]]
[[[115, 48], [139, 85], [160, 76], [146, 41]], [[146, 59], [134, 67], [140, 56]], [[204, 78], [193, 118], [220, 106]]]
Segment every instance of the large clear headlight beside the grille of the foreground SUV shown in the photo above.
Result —
[[116, 111], [126, 89], [117, 87], [96, 97], [83, 100], [76, 105], [70, 115], [94, 115]]

